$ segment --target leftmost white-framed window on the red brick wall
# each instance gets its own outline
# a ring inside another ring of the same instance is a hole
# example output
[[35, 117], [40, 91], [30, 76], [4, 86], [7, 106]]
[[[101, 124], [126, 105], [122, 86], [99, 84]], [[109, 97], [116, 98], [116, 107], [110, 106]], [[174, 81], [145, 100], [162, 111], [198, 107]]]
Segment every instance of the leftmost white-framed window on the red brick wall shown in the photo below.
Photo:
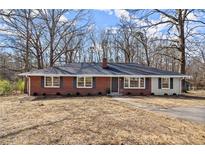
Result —
[[44, 78], [45, 87], [60, 87], [60, 77], [46, 76]]

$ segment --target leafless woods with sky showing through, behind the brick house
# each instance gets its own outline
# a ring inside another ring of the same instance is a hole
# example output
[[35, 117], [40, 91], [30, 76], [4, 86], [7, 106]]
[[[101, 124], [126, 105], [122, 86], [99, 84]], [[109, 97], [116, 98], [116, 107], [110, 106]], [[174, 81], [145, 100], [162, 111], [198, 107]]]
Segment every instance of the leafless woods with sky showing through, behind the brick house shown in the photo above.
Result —
[[125, 10], [97, 29], [90, 10], [0, 10], [0, 78], [73, 62], [139, 63], [205, 88], [205, 10]]

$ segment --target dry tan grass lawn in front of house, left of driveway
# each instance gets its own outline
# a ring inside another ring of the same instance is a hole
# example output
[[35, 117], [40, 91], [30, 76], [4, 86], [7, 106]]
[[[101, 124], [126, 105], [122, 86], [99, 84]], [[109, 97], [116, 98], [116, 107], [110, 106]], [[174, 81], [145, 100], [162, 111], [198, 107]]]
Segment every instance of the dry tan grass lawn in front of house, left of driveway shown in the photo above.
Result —
[[24, 97], [0, 98], [0, 144], [205, 144], [205, 125], [109, 97]]

